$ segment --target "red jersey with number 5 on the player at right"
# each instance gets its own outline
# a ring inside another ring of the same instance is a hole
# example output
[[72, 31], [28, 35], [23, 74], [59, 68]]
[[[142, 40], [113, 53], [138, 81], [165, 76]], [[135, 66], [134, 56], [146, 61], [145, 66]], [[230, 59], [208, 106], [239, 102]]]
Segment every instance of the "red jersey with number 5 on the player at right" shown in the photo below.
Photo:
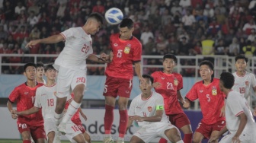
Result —
[[198, 81], [190, 89], [186, 97], [190, 101], [199, 99], [203, 113], [202, 122], [206, 125], [212, 125], [219, 120], [225, 120], [224, 117], [219, 116], [226, 95], [219, 89], [218, 78], [213, 78], [212, 83], [207, 86], [203, 84], [203, 81]]

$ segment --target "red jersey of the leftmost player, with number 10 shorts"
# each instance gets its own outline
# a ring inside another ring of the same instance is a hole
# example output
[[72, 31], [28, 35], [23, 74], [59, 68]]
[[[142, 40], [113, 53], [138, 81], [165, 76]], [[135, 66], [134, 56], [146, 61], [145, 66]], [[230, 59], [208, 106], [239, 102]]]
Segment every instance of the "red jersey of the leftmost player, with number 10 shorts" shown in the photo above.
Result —
[[[28, 87], [27, 83], [21, 84], [14, 88], [14, 91], [9, 95], [9, 100], [11, 103], [17, 103], [18, 112], [29, 110], [34, 107], [37, 87], [42, 85], [43, 84], [37, 83], [36, 87]], [[30, 126], [43, 126], [42, 110], [27, 116], [18, 116], [17, 122], [25, 122]]]

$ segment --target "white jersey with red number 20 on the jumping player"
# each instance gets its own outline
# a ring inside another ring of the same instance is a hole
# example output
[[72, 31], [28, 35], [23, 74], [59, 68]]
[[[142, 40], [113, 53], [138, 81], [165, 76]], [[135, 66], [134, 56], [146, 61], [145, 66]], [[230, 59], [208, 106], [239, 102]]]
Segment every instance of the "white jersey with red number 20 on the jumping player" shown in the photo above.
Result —
[[59, 70], [59, 66], [62, 66], [76, 71], [86, 71], [85, 59], [93, 52], [91, 35], [85, 33], [82, 27], [72, 27], [60, 34], [66, 42], [54, 62], [54, 68]]

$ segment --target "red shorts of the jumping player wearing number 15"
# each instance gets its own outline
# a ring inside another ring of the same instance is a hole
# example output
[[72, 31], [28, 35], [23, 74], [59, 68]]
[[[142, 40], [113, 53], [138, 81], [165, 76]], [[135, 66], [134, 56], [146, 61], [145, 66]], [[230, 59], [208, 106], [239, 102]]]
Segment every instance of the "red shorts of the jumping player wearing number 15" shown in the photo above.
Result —
[[132, 79], [113, 78], [107, 76], [103, 95], [115, 98], [117, 96], [130, 98], [132, 88]]

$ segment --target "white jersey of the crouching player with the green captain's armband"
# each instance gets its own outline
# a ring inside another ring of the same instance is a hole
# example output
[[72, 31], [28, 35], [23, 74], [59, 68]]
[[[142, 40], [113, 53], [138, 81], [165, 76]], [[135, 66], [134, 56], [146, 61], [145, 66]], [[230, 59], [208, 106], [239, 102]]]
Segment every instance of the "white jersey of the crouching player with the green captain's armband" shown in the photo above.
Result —
[[[141, 94], [135, 97], [130, 104], [128, 116], [155, 116], [156, 106], [164, 106], [164, 98], [161, 94], [152, 91], [152, 95], [149, 99], [142, 100]], [[139, 126], [151, 126], [157, 123], [169, 123], [167, 116], [165, 115], [165, 109], [163, 109], [162, 120], [160, 122], [138, 122]]]

